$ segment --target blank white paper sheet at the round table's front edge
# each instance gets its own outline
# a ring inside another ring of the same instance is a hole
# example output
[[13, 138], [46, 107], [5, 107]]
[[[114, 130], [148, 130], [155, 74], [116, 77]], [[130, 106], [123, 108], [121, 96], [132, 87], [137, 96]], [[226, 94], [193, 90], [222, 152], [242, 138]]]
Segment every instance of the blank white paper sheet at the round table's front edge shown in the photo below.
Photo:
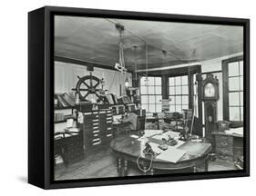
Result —
[[157, 158], [163, 161], [167, 162], [179, 162], [179, 160], [185, 155], [185, 151], [175, 149], [175, 148], [169, 148], [166, 151], [161, 152]]

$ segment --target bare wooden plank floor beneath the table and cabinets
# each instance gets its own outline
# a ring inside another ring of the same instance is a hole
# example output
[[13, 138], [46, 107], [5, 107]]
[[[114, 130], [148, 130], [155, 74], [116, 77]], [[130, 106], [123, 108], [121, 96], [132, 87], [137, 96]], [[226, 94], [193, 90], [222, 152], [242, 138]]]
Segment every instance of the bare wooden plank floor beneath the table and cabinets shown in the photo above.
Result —
[[[116, 157], [111, 149], [107, 146], [97, 152], [87, 155], [79, 162], [68, 165], [56, 165], [55, 180], [75, 180], [90, 178], [108, 178], [117, 177]], [[135, 164], [129, 165], [128, 176], [142, 175]], [[231, 162], [216, 160], [209, 163], [209, 171], [230, 171], [236, 170]], [[203, 165], [199, 167], [203, 171]], [[168, 171], [156, 171], [156, 173], [168, 173]]]

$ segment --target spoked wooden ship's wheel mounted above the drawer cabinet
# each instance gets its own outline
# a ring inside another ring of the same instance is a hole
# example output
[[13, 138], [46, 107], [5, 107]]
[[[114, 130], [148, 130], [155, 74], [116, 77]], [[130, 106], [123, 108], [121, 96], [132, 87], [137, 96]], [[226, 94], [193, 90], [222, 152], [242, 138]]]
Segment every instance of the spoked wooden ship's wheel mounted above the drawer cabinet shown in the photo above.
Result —
[[79, 94], [80, 101], [88, 101], [89, 98], [94, 98], [97, 103], [104, 101], [103, 97], [100, 95], [100, 80], [90, 73], [84, 77], [79, 77], [75, 89], [76, 93]]

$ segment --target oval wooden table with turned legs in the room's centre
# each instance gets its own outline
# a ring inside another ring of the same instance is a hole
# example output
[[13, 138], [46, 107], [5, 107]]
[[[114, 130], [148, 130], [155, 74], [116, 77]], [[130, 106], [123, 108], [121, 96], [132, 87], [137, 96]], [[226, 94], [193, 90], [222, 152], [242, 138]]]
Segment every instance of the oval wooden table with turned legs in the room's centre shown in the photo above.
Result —
[[[130, 137], [130, 135], [123, 135], [113, 139], [110, 143], [110, 147], [117, 156], [118, 175], [127, 176], [128, 162], [137, 162], [140, 154], [140, 142], [137, 139]], [[179, 146], [178, 149], [186, 151], [186, 154], [179, 162], [173, 163], [162, 161], [156, 157], [153, 159], [149, 174], [154, 174], [154, 169], [181, 170], [193, 168], [193, 170], [196, 172], [197, 166], [202, 162], [205, 164], [205, 171], [208, 171], [208, 153], [211, 150], [210, 143], [186, 142]], [[146, 169], [148, 168], [150, 161], [150, 157], [143, 157], [141, 158], [139, 164]]]

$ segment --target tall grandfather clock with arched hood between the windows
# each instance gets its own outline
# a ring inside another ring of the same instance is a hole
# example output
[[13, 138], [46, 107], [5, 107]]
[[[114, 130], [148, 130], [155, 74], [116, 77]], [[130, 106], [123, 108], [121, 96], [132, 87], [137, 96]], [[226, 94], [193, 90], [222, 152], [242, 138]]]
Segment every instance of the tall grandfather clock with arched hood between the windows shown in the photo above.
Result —
[[201, 75], [198, 75], [197, 79], [200, 85], [201, 101], [204, 102], [205, 137], [209, 142], [214, 143], [211, 132], [215, 131], [218, 119], [219, 80], [212, 73], [208, 73], [204, 80]]

